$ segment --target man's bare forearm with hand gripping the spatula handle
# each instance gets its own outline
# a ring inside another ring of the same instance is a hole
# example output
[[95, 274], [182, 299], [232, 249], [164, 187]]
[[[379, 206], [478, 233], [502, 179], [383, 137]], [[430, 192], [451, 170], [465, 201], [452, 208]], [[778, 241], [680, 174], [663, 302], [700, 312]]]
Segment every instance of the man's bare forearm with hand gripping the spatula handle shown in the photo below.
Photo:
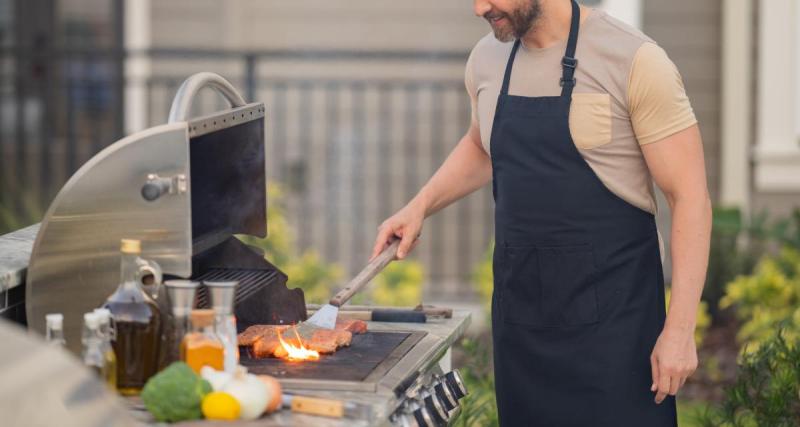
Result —
[[417, 195], [378, 229], [374, 258], [392, 236], [402, 239], [397, 258], [404, 258], [422, 230], [425, 218], [472, 193], [492, 179], [492, 162], [481, 145], [480, 130], [473, 119], [469, 130]]

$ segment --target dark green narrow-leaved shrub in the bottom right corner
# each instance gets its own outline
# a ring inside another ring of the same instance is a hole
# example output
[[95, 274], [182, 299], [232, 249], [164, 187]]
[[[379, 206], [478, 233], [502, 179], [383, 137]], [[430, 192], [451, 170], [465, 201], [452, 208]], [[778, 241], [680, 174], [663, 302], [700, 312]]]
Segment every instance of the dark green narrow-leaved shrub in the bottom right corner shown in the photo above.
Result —
[[800, 344], [781, 331], [745, 353], [723, 402], [697, 414], [704, 427], [800, 425]]

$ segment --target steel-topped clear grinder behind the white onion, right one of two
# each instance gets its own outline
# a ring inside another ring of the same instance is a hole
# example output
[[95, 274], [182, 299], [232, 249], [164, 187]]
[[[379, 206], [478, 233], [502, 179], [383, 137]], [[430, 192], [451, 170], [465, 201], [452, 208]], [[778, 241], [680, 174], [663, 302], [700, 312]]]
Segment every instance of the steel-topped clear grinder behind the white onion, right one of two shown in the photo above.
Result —
[[236, 339], [236, 316], [233, 302], [236, 297], [238, 281], [204, 281], [211, 296], [211, 307], [216, 315], [217, 335], [225, 346], [225, 372], [233, 373], [239, 364], [239, 344]]

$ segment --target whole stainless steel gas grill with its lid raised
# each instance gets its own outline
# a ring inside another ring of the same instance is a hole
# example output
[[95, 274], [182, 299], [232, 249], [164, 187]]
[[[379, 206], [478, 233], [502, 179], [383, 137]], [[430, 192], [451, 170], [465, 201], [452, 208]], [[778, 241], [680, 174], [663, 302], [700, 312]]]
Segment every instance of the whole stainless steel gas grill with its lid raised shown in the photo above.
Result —
[[[214, 89], [230, 108], [189, 118], [202, 88]], [[302, 290], [287, 288], [286, 274], [235, 237], [267, 234], [264, 120], [263, 103], [246, 103], [222, 77], [200, 73], [178, 90], [167, 124], [119, 140], [83, 165], [53, 201], [33, 244], [25, 284], [29, 327], [44, 333], [45, 314], [63, 313], [69, 348], [79, 352], [82, 314], [118, 284], [122, 238], [140, 239], [142, 257], [156, 261], [165, 279], [238, 281], [240, 331], [305, 320]], [[196, 305], [210, 306], [202, 286]], [[368, 322], [349, 347], [316, 362], [244, 352], [241, 363], [275, 376], [290, 392], [368, 409], [358, 420], [324, 425], [446, 425], [465, 393], [457, 372], [446, 372], [449, 348], [468, 323], [458, 311], [425, 324]], [[302, 418], [295, 417], [282, 411], [264, 425], [298, 425]]]

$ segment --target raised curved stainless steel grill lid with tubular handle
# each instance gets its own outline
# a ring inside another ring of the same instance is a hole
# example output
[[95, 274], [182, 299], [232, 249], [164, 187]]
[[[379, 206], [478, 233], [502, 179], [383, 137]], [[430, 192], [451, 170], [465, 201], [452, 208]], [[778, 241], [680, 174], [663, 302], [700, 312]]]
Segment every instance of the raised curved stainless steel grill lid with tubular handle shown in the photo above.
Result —
[[[119, 282], [119, 241], [142, 241], [142, 257], [175, 277], [192, 256], [233, 233], [266, 235], [264, 105], [246, 104], [219, 76], [187, 79], [171, 123], [123, 138], [64, 185], [42, 220], [26, 283], [28, 325], [44, 333], [47, 313], [64, 314], [69, 348], [80, 351], [81, 316]], [[202, 87], [231, 108], [187, 120]], [[189, 90], [191, 89], [191, 90]]]

